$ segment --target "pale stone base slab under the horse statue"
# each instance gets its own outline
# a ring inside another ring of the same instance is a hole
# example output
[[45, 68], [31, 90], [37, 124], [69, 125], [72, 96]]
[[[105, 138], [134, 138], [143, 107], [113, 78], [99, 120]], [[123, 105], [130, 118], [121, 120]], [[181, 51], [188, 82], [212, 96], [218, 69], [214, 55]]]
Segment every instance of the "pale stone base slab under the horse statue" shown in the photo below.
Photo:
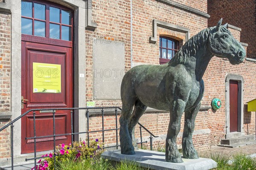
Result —
[[153, 170], [209, 170], [217, 167], [212, 159], [182, 159], [183, 163], [170, 163], [165, 160], [165, 153], [152, 150], [136, 150], [135, 155], [123, 155], [120, 150], [105, 151], [103, 159], [113, 161], [135, 161], [141, 167]]

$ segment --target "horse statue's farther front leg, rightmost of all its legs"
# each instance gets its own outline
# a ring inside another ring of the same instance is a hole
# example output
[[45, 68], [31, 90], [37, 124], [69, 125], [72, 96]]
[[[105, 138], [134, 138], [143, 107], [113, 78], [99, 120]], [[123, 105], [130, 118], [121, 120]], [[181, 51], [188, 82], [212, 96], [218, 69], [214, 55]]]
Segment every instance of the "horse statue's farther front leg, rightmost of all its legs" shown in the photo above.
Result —
[[198, 153], [194, 148], [192, 133], [195, 128], [195, 117], [200, 109], [201, 102], [192, 111], [185, 112], [184, 130], [182, 136], [183, 158], [198, 159]]

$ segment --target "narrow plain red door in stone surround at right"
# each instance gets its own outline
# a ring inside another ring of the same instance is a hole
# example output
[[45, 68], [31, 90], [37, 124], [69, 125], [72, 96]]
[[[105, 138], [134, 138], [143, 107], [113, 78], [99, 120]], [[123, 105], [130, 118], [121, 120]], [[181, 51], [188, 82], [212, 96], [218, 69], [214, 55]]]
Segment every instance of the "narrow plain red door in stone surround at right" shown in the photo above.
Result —
[[237, 132], [238, 128], [238, 82], [230, 80], [230, 132]]

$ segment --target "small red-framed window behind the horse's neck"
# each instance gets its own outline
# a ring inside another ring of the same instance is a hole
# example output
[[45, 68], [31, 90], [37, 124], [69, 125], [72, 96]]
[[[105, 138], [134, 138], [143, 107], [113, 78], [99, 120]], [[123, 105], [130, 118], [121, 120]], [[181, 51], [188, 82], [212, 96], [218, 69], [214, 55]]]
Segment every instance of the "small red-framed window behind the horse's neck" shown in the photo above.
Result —
[[159, 39], [159, 62], [165, 64], [177, 53], [179, 41], [169, 37], [160, 37]]

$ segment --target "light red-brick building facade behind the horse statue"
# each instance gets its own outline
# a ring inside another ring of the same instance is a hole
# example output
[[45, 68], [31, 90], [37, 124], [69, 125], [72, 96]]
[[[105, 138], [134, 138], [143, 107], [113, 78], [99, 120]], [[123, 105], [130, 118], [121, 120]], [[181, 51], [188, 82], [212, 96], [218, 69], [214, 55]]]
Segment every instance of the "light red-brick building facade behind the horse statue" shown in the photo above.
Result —
[[[207, 0], [173, 0], [184, 6], [207, 13]], [[133, 62], [138, 64], [159, 64], [159, 42], [156, 44], [149, 42], [152, 36], [152, 21], [159, 20], [183, 28], [188, 28], [190, 36], [197, 34], [204, 28], [207, 28], [211, 18], [182, 10], [177, 7], [169, 6], [157, 0], [133, 0]], [[209, 3], [208, 3], [209, 4]], [[208, 8], [209, 9], [209, 8]], [[0, 13], [1, 18], [1, 36], [10, 38], [10, 14]], [[130, 51], [130, 0], [92, 1], [92, 19], [97, 24], [95, 31], [85, 30], [86, 35], [86, 93], [80, 94], [86, 96], [86, 101], [95, 102], [96, 107], [118, 106], [121, 107], [121, 100], [94, 100], [93, 99], [93, 38], [101, 38], [103, 41], [119, 41], [125, 45], [125, 69], [131, 68], [131, 51]], [[224, 22], [225, 17], [224, 18]], [[220, 19], [212, 21], [215, 26]], [[2, 21], [3, 20], [3, 21]], [[240, 19], [242, 21], [243, 19]], [[227, 22], [227, 21], [226, 21]], [[230, 23], [238, 26], [236, 23]], [[242, 28], [242, 27], [241, 27]], [[240, 41], [240, 31], [229, 28], [234, 37]], [[242, 31], [244, 28], [242, 28]], [[186, 34], [179, 31], [173, 31], [167, 28], [157, 27], [157, 39], [159, 36], [168, 36], [182, 41], [186, 41]], [[255, 35], [255, 34], [254, 34]], [[242, 33], [241, 33], [242, 37]], [[254, 39], [255, 40], [255, 39]], [[241, 39], [241, 42], [246, 42]], [[10, 111], [10, 77], [2, 73], [10, 72], [11, 46], [9, 42], [0, 42], [0, 65], [1, 66], [1, 107], [4, 106], [5, 112]], [[250, 44], [249, 44], [250, 45]], [[250, 46], [248, 46], [248, 49]], [[251, 52], [250, 52], [251, 53]], [[253, 53], [253, 52], [252, 52]], [[247, 53], [248, 54], [248, 53]], [[255, 56], [255, 52], [254, 52]], [[227, 74], [241, 75], [244, 79], [244, 132], [246, 134], [255, 134], [255, 112], [247, 112], [246, 102], [256, 96], [256, 63], [245, 60], [240, 65], [231, 65], [226, 59], [213, 57], [204, 74], [205, 93], [202, 101], [202, 109], [198, 112], [195, 124], [195, 133], [193, 142], [198, 150], [204, 150], [212, 145], [220, 143], [226, 134], [226, 105], [225, 102], [225, 80]], [[119, 91], [116, 91], [119, 93]], [[209, 109], [212, 98], [219, 98], [222, 101], [222, 107], [218, 111]], [[9, 105], [9, 106], [8, 106]], [[7, 107], [8, 106], [8, 107]], [[1, 110], [2, 114], [2, 110]], [[183, 131], [184, 115], [181, 122], [181, 132]], [[105, 116], [105, 128], [115, 128], [115, 116]], [[6, 122], [5, 122], [6, 123]], [[1, 122], [1, 127], [5, 124]], [[102, 117], [100, 115], [90, 116], [90, 130], [101, 130]], [[146, 112], [140, 119], [140, 123], [150, 130], [154, 135], [160, 136], [154, 139], [154, 148], [164, 147], [165, 135], [169, 124], [168, 112]], [[1, 139], [9, 138], [9, 131], [0, 133]], [[101, 138], [101, 133], [90, 134], [92, 138]], [[136, 136], [139, 136], [139, 127], [136, 127]], [[114, 143], [116, 132], [105, 132], [105, 143]], [[143, 138], [146, 139], [148, 133], [143, 130]], [[148, 140], [148, 139], [146, 139]], [[2, 140], [1, 140], [2, 141]], [[139, 141], [140, 142], [140, 141]], [[178, 136], [177, 143], [181, 144], [181, 135]], [[9, 156], [9, 143], [0, 143], [0, 157]], [[149, 141], [147, 146], [149, 146]], [[8, 151], [7, 151], [8, 150]]]

